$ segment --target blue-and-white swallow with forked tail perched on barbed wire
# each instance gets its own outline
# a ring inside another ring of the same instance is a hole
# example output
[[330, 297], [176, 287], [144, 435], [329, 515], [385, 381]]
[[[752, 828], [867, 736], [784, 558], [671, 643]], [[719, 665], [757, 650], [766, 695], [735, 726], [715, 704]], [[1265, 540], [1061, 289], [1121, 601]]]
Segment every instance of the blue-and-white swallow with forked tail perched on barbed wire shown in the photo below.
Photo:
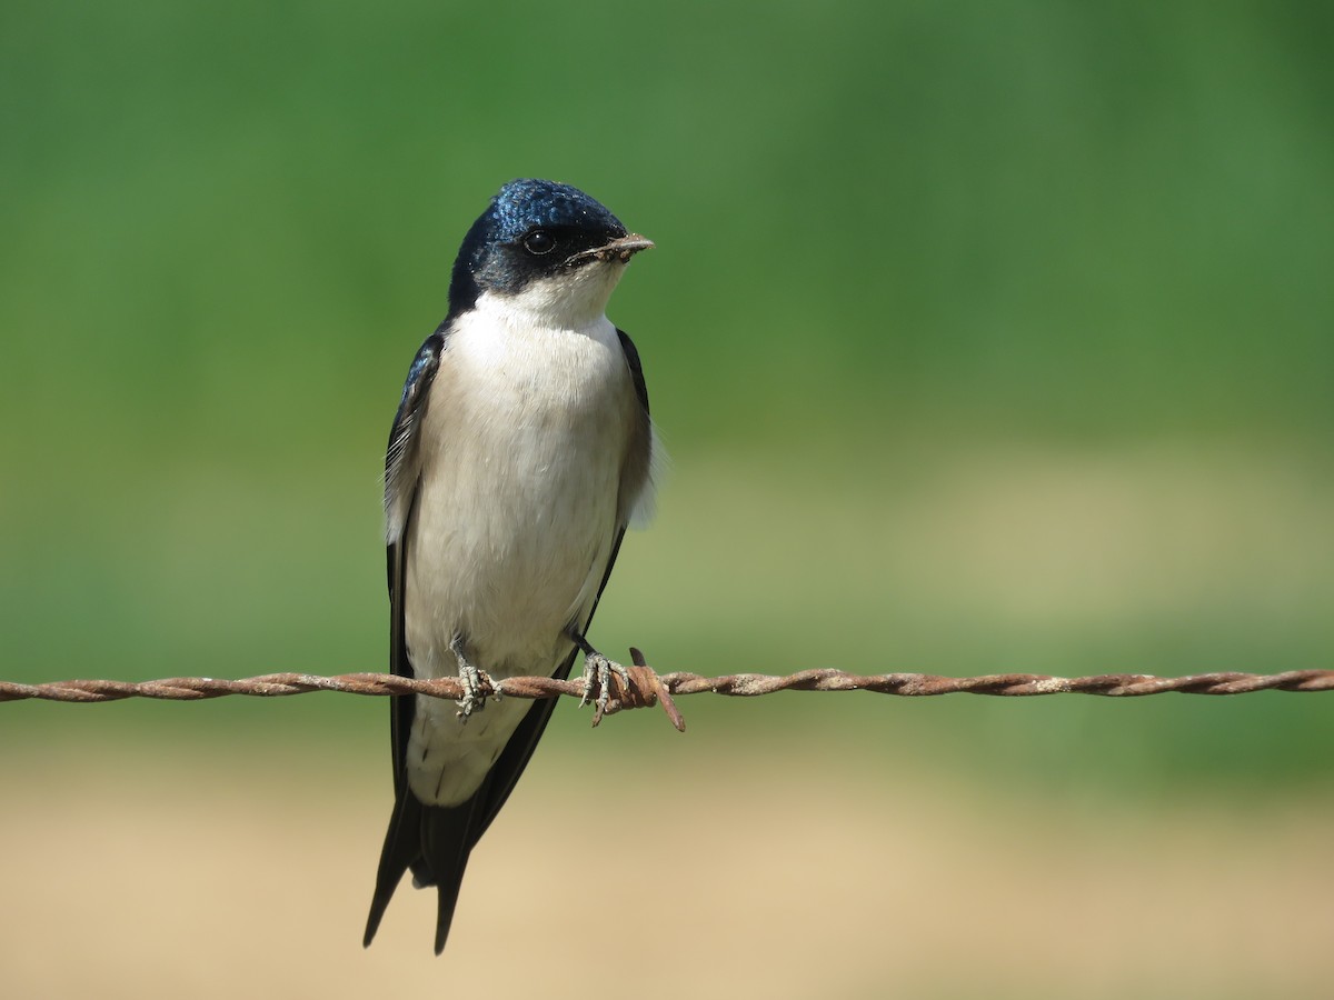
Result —
[[435, 887], [444, 951], [472, 848], [514, 789], [567, 679], [606, 705], [624, 668], [587, 639], [626, 529], [647, 520], [660, 448], [634, 341], [606, 315], [654, 243], [583, 191], [519, 179], [468, 229], [448, 312], [408, 371], [384, 464], [390, 661], [463, 697], [391, 699], [394, 812], [370, 947], [404, 873]]

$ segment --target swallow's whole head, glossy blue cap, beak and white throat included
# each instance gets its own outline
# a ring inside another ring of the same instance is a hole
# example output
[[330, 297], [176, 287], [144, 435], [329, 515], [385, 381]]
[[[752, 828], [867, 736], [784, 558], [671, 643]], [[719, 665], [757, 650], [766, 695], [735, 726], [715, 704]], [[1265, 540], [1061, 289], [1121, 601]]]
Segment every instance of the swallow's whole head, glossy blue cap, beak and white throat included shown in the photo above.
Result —
[[570, 319], [603, 313], [630, 259], [652, 241], [568, 184], [512, 180], [472, 224], [450, 283], [451, 315], [483, 295]]

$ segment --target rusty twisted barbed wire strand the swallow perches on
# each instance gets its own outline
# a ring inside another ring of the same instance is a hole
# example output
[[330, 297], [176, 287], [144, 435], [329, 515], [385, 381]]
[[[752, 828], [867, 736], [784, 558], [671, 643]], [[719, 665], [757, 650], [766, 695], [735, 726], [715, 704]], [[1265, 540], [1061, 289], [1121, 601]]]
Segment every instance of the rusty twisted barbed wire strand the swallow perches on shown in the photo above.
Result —
[[[1315, 692], [1334, 691], [1334, 671], [1307, 669], [1283, 673], [1194, 673], [1185, 677], [1159, 677], [1146, 673], [1099, 673], [1089, 677], [1053, 677], [1043, 673], [995, 673], [980, 677], [944, 677], [934, 673], [855, 675], [838, 669], [807, 669], [786, 676], [766, 673], [732, 673], [703, 677], [698, 673], [656, 673], [644, 663], [643, 653], [631, 649], [632, 667], [627, 668], [630, 684], [612, 677], [611, 697], [606, 709], [594, 715], [596, 725], [603, 715], [630, 708], [660, 704], [678, 729], [684, 729], [680, 712], [672, 701], [678, 695], [724, 695], [758, 697], [779, 691], [868, 691], [899, 697], [935, 695], [990, 695], [999, 697], [1034, 697], [1041, 695], [1097, 695], [1101, 697], [1143, 697], [1147, 695], [1249, 695], [1257, 691]], [[200, 701], [244, 695], [249, 697], [285, 697], [332, 691], [343, 695], [424, 695], [458, 700], [463, 685], [456, 677], [416, 680], [390, 673], [267, 673], [241, 680], [216, 677], [167, 677], [149, 681], [60, 680], [45, 684], [0, 681], [0, 701], [69, 701], [105, 703], [129, 697], [165, 701]], [[582, 680], [554, 677], [506, 677], [483, 681], [490, 697], [584, 697]]]

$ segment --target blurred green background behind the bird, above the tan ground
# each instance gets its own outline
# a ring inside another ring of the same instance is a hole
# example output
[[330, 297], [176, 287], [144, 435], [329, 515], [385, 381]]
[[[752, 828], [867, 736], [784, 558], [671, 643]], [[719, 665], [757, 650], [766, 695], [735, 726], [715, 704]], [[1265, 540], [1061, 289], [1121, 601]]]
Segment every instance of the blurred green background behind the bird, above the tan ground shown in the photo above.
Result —
[[[3, 675], [380, 669], [388, 423], [515, 176], [658, 243], [611, 316], [674, 463], [608, 652], [1330, 667], [1330, 11], [7, 4]], [[1315, 696], [682, 707], [686, 737], [567, 707], [544, 753], [800, 743], [1137, 815], [1334, 788]], [[11, 760], [387, 740], [332, 696], [0, 716]]]

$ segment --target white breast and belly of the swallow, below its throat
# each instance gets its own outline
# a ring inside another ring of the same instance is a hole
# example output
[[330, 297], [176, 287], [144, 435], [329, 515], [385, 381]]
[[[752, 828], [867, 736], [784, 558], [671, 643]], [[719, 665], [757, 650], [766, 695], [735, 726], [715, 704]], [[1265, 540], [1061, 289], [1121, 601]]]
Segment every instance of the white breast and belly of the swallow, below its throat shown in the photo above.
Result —
[[[492, 677], [548, 675], [570, 653], [615, 543], [636, 405], [615, 328], [524, 331], [479, 309], [452, 333], [422, 424], [408, 528], [406, 637], [419, 677], [454, 676], [450, 649]], [[480, 785], [531, 701], [488, 703], [463, 725], [419, 699], [412, 791], [451, 805]]]

